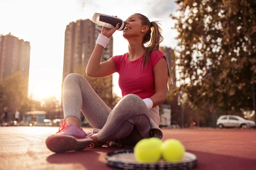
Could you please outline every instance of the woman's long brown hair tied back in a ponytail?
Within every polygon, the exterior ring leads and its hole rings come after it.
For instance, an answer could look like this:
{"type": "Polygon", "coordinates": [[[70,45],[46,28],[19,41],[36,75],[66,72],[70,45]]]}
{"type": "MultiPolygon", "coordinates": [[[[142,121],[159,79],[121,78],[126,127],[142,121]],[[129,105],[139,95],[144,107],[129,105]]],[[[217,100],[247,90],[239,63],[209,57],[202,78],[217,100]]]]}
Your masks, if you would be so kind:
{"type": "MultiPolygon", "coordinates": [[[[158,24],[160,24],[160,23],[158,23],[157,21],[150,22],[145,15],[138,14],[138,13],[136,13],[136,14],[139,15],[143,26],[148,26],[148,32],[145,34],[145,37],[142,41],[143,46],[146,42],[150,41],[150,39],[151,39],[150,44],[147,47],[144,46],[145,47],[145,56],[143,58],[142,67],[145,67],[148,65],[148,61],[151,57],[151,53],[154,50],[160,50],[160,43],[163,41],[163,36],[161,35],[161,32],[160,32],[160,31],[162,31],[162,29],[158,26],[158,24]],[[152,31],[151,31],[151,29],[152,29],[152,31]],[[152,32],[152,38],[151,38],[151,32],[152,32]]],[[[165,57],[165,59],[166,59],[166,57],[165,57]]],[[[170,72],[170,68],[169,68],[169,62],[167,61],[167,59],[166,59],[166,63],[167,63],[167,67],[168,67],[168,89],[169,89],[170,85],[172,85],[174,83],[172,80],[172,76],[171,76],[171,72],[170,72]]]]}

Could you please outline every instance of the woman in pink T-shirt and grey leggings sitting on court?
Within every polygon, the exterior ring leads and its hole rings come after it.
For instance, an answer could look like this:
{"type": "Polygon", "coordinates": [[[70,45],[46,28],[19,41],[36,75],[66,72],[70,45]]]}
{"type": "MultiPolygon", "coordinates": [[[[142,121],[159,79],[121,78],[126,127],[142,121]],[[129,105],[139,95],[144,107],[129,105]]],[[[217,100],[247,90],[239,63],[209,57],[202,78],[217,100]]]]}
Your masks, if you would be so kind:
{"type": "Polygon", "coordinates": [[[83,150],[113,141],[119,146],[134,146],[143,138],[162,138],[158,105],[166,100],[172,77],[168,62],[159,50],[163,41],[161,29],[142,14],[131,15],[125,23],[123,37],[129,43],[128,53],[100,63],[102,51],[119,24],[113,29],[103,27],[86,69],[90,77],[118,72],[122,99],[111,110],[84,77],[69,74],[63,83],[65,120],[59,131],[46,141],[53,152],[83,150]],[[80,111],[94,128],[93,132],[85,133],[80,128],[80,111]]]}

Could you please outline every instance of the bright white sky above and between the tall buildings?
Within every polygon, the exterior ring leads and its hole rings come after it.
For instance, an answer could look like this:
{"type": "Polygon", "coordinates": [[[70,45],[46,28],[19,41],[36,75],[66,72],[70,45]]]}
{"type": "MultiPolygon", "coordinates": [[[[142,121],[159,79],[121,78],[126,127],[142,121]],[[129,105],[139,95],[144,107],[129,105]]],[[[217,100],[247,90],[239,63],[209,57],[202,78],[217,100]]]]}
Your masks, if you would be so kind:
{"type": "MultiPolygon", "coordinates": [[[[126,20],[141,13],[161,21],[161,45],[175,48],[177,31],[169,17],[176,14],[174,0],[0,0],[0,34],[30,42],[29,97],[41,101],[54,95],[61,100],[65,29],[70,22],[92,19],[94,13],[126,20]]],[[[113,56],[128,52],[122,31],[113,34],[113,56]]],[[[121,96],[118,74],[113,74],[113,93],[121,96]]]]}

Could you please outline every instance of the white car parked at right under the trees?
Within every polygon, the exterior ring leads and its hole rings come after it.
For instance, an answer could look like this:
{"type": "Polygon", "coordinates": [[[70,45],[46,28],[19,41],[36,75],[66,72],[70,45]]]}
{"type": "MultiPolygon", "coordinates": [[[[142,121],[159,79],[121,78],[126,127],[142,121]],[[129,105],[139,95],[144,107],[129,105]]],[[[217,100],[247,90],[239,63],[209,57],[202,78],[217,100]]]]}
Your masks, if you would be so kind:
{"type": "Polygon", "coordinates": [[[235,115],[224,115],[220,116],[217,120],[217,127],[254,127],[255,122],[250,120],[245,120],[239,116],[235,115]]]}

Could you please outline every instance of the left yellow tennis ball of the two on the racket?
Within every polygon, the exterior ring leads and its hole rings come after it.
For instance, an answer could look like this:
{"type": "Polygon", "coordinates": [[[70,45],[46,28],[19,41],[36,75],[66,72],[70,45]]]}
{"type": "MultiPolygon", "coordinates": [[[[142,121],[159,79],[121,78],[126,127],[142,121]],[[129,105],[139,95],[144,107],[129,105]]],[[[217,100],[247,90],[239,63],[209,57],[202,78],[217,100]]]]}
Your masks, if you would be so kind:
{"type": "Polygon", "coordinates": [[[154,163],[160,160],[162,141],[158,138],[140,140],[134,147],[134,156],[139,163],[154,163]]]}

